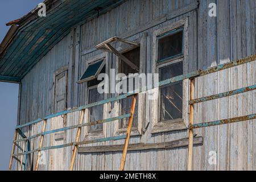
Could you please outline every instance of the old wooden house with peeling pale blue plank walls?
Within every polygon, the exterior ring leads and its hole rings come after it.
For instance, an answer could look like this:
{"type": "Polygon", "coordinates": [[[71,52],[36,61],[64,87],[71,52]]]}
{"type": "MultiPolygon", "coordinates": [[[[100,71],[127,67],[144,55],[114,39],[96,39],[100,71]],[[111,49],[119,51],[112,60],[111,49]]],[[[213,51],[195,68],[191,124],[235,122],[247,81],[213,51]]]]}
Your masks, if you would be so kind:
{"type": "Polygon", "coordinates": [[[154,88],[155,100],[148,92],[137,94],[125,170],[256,169],[255,0],[44,3],[46,16],[36,7],[9,22],[0,47],[0,80],[19,83],[12,169],[68,170],[75,148],[74,170],[119,169],[125,138],[118,136],[126,134],[128,119],[118,116],[130,113],[131,98],[87,107],[121,95],[97,92],[98,73],[110,75],[110,69],[159,73],[159,81],[209,71],[195,75],[193,89],[191,76],[154,88]],[[216,95],[192,107],[189,102],[220,93],[228,97],[216,95]],[[72,126],[114,117],[79,127],[84,143],[68,145],[79,130],[72,126]],[[212,121],[228,124],[189,133],[193,123],[212,121]],[[56,129],[63,130],[45,133],[56,129]],[[52,146],[63,147],[47,148],[52,146]]]}

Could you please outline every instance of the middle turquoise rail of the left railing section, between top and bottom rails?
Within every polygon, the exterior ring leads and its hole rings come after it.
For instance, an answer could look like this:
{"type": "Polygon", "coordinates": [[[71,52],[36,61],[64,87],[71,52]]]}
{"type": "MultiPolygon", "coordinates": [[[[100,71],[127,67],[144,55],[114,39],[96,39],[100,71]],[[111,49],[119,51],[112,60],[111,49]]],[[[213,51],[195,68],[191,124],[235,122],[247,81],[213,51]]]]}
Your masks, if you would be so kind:
{"type": "Polygon", "coordinates": [[[33,136],[31,136],[31,137],[27,137],[27,138],[22,138],[22,139],[14,140],[14,143],[22,142],[22,141],[25,141],[25,140],[30,140],[30,139],[33,139],[33,138],[36,138],[36,137],[40,137],[41,135],[48,135],[48,134],[57,133],[57,132],[60,132],[60,131],[66,131],[66,130],[76,129],[76,128],[78,128],[78,127],[92,126],[92,125],[98,125],[98,124],[101,124],[101,123],[112,122],[112,121],[119,120],[119,119],[129,118],[130,116],[131,116],[131,114],[125,114],[125,115],[120,115],[120,116],[118,116],[118,117],[113,117],[113,118],[108,118],[108,119],[102,119],[102,120],[95,121],[95,122],[83,123],[83,124],[81,124],[81,125],[74,125],[74,126],[63,127],[63,128],[61,128],[61,129],[50,130],[50,131],[44,131],[43,133],[39,133],[39,134],[33,135],[33,136]]]}

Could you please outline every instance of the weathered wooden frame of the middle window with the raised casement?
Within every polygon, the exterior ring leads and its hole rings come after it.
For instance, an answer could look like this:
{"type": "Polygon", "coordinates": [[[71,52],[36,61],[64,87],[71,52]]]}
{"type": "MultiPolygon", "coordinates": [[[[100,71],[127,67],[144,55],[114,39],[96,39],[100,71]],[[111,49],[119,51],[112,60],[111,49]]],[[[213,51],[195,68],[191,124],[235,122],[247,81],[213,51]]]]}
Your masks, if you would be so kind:
{"type": "MultiPolygon", "coordinates": [[[[147,46],[146,46],[146,42],[147,42],[147,34],[143,34],[143,36],[140,36],[139,38],[134,38],[131,39],[131,41],[135,42],[135,43],[139,43],[139,48],[140,48],[140,60],[139,60],[139,72],[143,73],[145,72],[145,63],[146,63],[146,57],[144,56],[147,52],[147,46]]],[[[126,53],[129,52],[135,48],[138,47],[118,47],[117,50],[120,53],[126,53]]],[[[117,75],[120,71],[121,68],[121,59],[119,59],[119,57],[117,57],[117,59],[115,60],[115,74],[117,75]]],[[[135,74],[135,73],[134,73],[135,74]]],[[[127,79],[131,78],[130,76],[127,76],[127,79]]],[[[128,80],[127,80],[128,81],[128,80]]],[[[141,87],[141,85],[140,85],[141,87]]],[[[118,96],[119,94],[117,94],[118,96]]],[[[132,127],[131,129],[131,136],[138,136],[138,135],[142,135],[142,130],[143,130],[143,124],[144,124],[144,104],[145,104],[145,94],[144,93],[138,93],[137,95],[137,102],[138,102],[138,123],[137,123],[137,127],[132,127]]],[[[120,101],[116,101],[117,104],[117,113],[118,115],[120,115],[121,113],[121,104],[120,101]]],[[[127,128],[119,128],[119,121],[115,122],[114,124],[114,135],[118,136],[118,135],[123,135],[126,134],[127,132],[127,128]]]]}

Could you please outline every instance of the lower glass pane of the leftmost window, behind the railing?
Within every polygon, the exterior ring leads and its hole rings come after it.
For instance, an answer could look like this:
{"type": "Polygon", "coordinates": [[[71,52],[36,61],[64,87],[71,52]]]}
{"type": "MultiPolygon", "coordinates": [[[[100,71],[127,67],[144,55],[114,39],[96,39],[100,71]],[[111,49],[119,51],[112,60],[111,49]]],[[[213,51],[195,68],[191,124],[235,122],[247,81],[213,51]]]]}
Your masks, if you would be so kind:
{"type": "MultiPolygon", "coordinates": [[[[89,90],[89,104],[104,100],[104,94],[98,93],[97,88],[89,90]]],[[[103,105],[89,108],[89,122],[103,119],[103,105]]],[[[89,132],[102,131],[103,124],[89,126],[89,132]]]]}

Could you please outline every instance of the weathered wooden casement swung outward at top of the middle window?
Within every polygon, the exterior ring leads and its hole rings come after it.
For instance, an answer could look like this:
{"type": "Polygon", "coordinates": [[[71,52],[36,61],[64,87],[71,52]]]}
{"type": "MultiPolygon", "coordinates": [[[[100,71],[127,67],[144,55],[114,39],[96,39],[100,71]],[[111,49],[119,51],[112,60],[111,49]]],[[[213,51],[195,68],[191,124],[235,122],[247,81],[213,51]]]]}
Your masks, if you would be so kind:
{"type": "Polygon", "coordinates": [[[120,43],[124,43],[124,44],[128,44],[131,49],[137,48],[139,47],[138,43],[135,43],[133,41],[130,40],[126,40],[126,39],[121,39],[118,37],[113,37],[110,38],[100,44],[98,44],[96,46],[97,49],[100,49],[102,51],[106,51],[106,52],[111,52],[114,53],[116,56],[119,57],[119,59],[121,59],[122,61],[124,61],[127,65],[129,65],[131,67],[131,69],[134,69],[135,71],[139,72],[139,67],[137,65],[135,65],[133,63],[133,61],[130,61],[126,56],[124,56],[122,53],[120,53],[119,51],[117,51],[117,49],[115,49],[111,43],[116,43],[116,42],[120,42],[120,43]]]}

